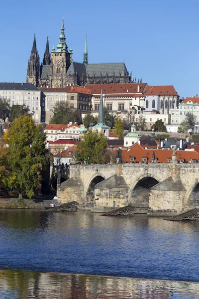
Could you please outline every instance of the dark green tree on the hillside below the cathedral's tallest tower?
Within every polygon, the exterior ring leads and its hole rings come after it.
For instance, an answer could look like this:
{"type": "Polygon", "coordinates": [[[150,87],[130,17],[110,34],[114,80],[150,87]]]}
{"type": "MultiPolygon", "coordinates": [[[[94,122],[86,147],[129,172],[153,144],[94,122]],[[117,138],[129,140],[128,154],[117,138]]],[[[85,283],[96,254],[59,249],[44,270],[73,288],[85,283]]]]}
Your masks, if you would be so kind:
{"type": "Polygon", "coordinates": [[[81,115],[77,109],[71,109],[67,102],[57,102],[54,107],[54,116],[50,119],[50,124],[67,125],[69,122],[81,124],[81,115]]]}

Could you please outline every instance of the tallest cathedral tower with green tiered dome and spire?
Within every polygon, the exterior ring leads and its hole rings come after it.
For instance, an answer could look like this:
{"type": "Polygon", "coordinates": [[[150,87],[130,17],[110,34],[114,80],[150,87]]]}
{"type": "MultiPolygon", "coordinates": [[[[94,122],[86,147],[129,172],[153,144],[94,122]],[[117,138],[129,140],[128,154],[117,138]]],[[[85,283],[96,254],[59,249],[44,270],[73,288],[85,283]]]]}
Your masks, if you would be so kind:
{"type": "Polygon", "coordinates": [[[64,19],[61,27],[61,34],[59,36],[59,44],[57,49],[53,46],[51,53],[50,64],[50,86],[61,88],[65,86],[66,72],[72,62],[72,51],[68,51],[66,44],[66,36],[64,33],[64,19]]]}

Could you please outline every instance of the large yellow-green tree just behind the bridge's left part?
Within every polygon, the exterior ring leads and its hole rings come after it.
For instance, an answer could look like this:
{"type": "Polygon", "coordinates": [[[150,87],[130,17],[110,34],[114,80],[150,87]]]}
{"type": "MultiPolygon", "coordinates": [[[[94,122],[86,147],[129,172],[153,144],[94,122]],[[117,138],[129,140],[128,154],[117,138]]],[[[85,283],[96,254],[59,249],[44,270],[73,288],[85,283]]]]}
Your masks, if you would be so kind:
{"type": "Polygon", "coordinates": [[[75,152],[76,161],[89,164],[103,163],[106,148],[107,141],[103,137],[102,132],[98,133],[97,130],[93,132],[88,131],[84,136],[84,140],[81,140],[77,145],[75,152]]]}

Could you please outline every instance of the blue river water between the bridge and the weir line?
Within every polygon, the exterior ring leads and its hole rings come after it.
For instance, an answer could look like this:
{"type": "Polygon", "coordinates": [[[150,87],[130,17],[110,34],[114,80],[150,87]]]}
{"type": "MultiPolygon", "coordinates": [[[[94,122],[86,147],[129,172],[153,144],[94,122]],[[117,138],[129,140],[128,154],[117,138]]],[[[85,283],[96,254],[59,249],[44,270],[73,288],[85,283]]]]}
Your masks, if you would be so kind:
{"type": "Polygon", "coordinates": [[[0,210],[1,269],[199,282],[198,255],[196,222],[0,210]]]}

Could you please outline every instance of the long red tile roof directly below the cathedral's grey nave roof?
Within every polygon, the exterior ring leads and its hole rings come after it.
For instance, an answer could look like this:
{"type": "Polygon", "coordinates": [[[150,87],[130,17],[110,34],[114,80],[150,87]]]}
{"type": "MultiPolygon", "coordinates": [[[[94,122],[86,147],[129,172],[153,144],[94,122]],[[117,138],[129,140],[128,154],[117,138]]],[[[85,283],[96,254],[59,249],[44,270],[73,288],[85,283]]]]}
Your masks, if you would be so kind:
{"type": "Polygon", "coordinates": [[[93,95],[100,95],[102,86],[102,92],[107,96],[107,94],[142,94],[146,85],[147,83],[87,84],[86,87],[91,89],[93,95]],[[138,85],[140,87],[139,92],[137,92],[138,85]]]}

